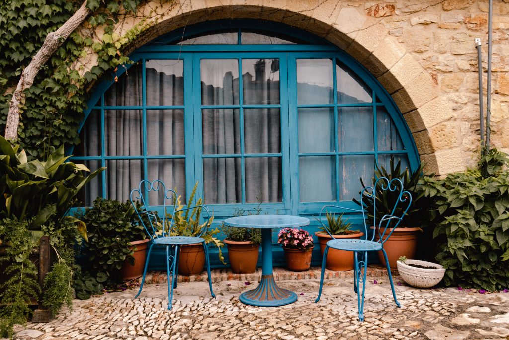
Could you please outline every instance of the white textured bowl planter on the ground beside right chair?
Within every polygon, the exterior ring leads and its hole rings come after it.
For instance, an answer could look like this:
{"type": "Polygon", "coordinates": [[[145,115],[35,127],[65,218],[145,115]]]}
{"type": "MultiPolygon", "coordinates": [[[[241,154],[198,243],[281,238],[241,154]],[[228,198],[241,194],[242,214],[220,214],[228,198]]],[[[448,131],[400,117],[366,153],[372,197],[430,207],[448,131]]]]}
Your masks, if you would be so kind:
{"type": "Polygon", "coordinates": [[[445,274],[445,269],[442,266],[427,261],[407,259],[405,263],[398,261],[397,265],[403,281],[417,288],[433,287],[442,280],[445,274]],[[434,267],[436,269],[416,268],[409,265],[434,267]]]}

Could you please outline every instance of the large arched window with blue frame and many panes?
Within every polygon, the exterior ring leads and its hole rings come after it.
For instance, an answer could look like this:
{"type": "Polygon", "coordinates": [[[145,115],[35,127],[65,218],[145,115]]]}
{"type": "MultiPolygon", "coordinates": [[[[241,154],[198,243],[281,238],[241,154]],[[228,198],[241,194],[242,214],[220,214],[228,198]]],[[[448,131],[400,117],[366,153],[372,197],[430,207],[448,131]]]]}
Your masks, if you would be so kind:
{"type": "Polygon", "coordinates": [[[107,76],[73,151],[107,167],[85,205],[126,200],[141,179],[159,178],[183,199],[197,181],[217,217],[259,202],[316,214],[324,202],[353,206],[376,163],[417,167],[401,113],[365,68],[319,38],[260,23],[173,32],[136,50],[118,82],[107,76]]]}

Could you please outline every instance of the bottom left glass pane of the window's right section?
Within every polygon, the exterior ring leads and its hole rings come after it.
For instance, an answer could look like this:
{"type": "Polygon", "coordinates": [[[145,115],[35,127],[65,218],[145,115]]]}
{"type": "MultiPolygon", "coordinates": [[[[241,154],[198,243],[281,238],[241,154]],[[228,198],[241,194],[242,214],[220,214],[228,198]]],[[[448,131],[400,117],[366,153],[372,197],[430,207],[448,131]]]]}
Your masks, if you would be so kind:
{"type": "Polygon", "coordinates": [[[301,202],[336,200],[334,156],[299,157],[301,202]]]}

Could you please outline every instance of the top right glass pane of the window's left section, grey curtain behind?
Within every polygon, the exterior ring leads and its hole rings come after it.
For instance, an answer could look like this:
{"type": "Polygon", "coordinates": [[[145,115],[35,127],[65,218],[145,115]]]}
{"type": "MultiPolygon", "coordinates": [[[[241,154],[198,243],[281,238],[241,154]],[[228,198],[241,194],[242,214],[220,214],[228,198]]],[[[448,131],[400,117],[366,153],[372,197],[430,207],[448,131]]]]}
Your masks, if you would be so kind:
{"type": "Polygon", "coordinates": [[[147,60],[147,105],[184,104],[184,61],[147,60]]]}

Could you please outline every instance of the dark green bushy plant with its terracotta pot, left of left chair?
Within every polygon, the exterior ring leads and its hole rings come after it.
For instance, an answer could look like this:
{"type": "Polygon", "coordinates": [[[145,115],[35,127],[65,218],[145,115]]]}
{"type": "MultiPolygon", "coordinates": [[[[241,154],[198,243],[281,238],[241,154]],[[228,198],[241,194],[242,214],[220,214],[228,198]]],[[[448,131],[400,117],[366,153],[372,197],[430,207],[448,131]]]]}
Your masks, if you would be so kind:
{"type": "Polygon", "coordinates": [[[131,280],[142,276],[150,240],[129,201],[98,197],[82,220],[88,228],[92,272],[100,282],[110,285],[117,278],[131,280]]]}

